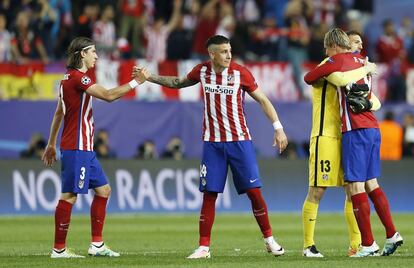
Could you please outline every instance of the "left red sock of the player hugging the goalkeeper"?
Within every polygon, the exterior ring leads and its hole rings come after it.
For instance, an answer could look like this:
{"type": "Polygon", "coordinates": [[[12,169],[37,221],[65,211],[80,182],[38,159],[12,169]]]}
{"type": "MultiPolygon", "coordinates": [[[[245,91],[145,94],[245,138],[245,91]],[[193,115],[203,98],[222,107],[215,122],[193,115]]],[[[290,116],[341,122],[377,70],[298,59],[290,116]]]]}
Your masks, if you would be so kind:
{"type": "Polygon", "coordinates": [[[371,230],[370,207],[367,193],[359,193],[353,195],[352,206],[354,207],[355,218],[358,228],[361,232],[361,240],[363,246],[371,246],[374,243],[374,236],[371,230]]]}

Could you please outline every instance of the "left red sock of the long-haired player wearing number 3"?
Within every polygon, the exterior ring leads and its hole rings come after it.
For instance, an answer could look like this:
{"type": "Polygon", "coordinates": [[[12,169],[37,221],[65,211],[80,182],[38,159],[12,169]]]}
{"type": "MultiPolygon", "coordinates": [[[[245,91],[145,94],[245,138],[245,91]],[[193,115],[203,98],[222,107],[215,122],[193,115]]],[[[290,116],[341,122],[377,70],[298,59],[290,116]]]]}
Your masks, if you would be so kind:
{"type": "Polygon", "coordinates": [[[59,200],[55,211],[55,249],[66,247],[66,235],[69,230],[70,215],[72,214],[73,204],[59,200]]]}

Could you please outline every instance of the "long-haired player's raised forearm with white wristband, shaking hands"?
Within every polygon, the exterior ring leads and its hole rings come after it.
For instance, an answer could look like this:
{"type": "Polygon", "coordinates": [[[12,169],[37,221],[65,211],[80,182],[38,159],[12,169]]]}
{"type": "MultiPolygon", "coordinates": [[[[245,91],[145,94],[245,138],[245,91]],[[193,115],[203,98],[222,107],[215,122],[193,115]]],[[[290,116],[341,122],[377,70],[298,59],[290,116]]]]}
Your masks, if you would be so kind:
{"type": "Polygon", "coordinates": [[[141,68],[137,72],[133,71],[132,73],[133,79],[127,84],[121,85],[119,87],[111,88],[109,90],[107,90],[101,85],[94,84],[86,90],[86,93],[94,96],[95,98],[98,98],[98,99],[101,99],[107,102],[112,102],[124,96],[128,91],[130,91],[131,89],[134,89],[139,84],[144,83],[148,79],[149,75],[150,73],[148,72],[147,69],[141,68]]]}

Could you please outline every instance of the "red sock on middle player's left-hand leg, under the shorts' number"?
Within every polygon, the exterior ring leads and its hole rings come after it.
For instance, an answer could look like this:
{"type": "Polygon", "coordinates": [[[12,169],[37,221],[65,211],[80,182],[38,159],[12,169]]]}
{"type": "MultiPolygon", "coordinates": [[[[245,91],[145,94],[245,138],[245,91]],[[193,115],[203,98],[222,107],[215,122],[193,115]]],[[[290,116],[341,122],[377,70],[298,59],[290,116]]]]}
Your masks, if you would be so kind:
{"type": "Polygon", "coordinates": [[[200,246],[210,246],[211,228],[213,228],[216,214],[216,199],[217,193],[204,192],[199,222],[200,246]]]}

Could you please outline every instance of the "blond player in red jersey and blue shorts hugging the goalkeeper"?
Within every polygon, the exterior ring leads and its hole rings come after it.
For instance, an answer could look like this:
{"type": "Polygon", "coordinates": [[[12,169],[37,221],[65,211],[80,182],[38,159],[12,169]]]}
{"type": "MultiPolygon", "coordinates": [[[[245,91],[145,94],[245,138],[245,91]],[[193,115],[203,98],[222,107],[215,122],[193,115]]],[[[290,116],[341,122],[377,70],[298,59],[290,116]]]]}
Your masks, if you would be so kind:
{"type": "MultiPolygon", "coordinates": [[[[325,35],[325,47],[329,61],[310,71],[305,76],[308,84],[334,72],[344,72],[364,66],[366,61],[359,53],[347,52],[338,43],[343,31],[338,28],[325,35]]],[[[361,232],[361,247],[352,257],[377,256],[379,246],[374,240],[370,221],[370,203],[385,228],[386,240],[382,256],[388,256],[403,244],[397,232],[388,199],[378,184],[381,176],[379,147],[381,135],[378,121],[370,110],[372,77],[367,75],[359,80],[353,77],[351,86],[338,87],[342,131],[342,164],[346,188],[351,194],[355,218],[361,232]]]]}

